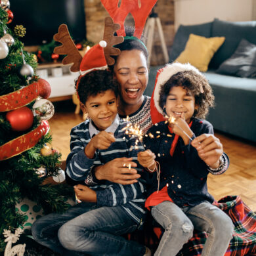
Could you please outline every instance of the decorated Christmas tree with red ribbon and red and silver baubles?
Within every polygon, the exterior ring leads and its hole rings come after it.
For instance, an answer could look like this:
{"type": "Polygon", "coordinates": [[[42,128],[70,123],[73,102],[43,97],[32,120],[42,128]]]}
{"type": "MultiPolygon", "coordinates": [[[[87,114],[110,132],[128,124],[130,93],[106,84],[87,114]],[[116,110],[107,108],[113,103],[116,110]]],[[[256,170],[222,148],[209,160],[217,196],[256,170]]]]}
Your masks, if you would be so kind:
{"type": "Polygon", "coordinates": [[[0,0],[0,255],[6,245],[4,229],[26,230],[32,224],[18,207],[23,200],[34,202],[36,212],[62,212],[72,192],[65,184],[45,182],[63,175],[47,121],[54,114],[47,100],[51,87],[34,75],[35,56],[24,51],[20,41],[26,29],[16,25],[11,30],[12,18],[9,0],[0,0]]]}

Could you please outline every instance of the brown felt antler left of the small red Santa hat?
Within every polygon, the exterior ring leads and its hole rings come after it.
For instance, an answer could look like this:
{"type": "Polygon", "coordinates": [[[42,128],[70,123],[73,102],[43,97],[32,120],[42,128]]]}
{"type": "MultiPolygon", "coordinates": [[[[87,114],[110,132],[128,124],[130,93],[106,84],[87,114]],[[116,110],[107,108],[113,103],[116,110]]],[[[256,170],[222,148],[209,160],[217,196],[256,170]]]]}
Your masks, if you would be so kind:
{"type": "Polygon", "coordinates": [[[62,45],[54,48],[53,53],[68,54],[68,56],[66,56],[62,60],[62,63],[63,64],[74,63],[70,68],[70,70],[72,72],[78,72],[79,66],[82,60],[82,56],[77,50],[77,48],[75,47],[74,41],[70,37],[70,33],[68,32],[68,27],[66,26],[66,24],[61,24],[58,27],[58,33],[56,33],[53,36],[53,39],[55,41],[62,43],[62,45]]]}

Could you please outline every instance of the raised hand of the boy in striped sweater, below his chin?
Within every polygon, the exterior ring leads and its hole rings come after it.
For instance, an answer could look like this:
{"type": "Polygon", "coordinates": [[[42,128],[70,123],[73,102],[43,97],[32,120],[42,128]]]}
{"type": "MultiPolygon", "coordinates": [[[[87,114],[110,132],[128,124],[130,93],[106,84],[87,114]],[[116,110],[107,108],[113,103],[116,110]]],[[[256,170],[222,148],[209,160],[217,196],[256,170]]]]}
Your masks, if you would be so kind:
{"type": "Polygon", "coordinates": [[[93,137],[90,142],[85,147],[85,155],[87,158],[93,158],[95,151],[97,149],[104,150],[109,148],[112,142],[115,142],[116,138],[113,133],[108,133],[106,131],[101,131],[95,137],[93,137]]]}

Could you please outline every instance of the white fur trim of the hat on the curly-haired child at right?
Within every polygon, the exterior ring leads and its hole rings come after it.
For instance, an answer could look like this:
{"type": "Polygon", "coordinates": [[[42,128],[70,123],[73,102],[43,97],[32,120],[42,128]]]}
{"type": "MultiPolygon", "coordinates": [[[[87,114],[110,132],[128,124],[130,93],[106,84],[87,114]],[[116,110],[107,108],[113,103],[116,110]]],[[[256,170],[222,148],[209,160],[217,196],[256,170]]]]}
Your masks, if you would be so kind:
{"type": "Polygon", "coordinates": [[[161,87],[175,74],[184,71],[194,71],[197,74],[201,74],[200,71],[194,66],[187,64],[181,64],[179,62],[173,62],[172,64],[167,64],[164,68],[159,70],[160,74],[158,75],[158,80],[156,81],[155,91],[154,91],[154,103],[156,109],[160,114],[164,116],[163,110],[160,108],[159,100],[160,100],[160,91],[161,87]]]}

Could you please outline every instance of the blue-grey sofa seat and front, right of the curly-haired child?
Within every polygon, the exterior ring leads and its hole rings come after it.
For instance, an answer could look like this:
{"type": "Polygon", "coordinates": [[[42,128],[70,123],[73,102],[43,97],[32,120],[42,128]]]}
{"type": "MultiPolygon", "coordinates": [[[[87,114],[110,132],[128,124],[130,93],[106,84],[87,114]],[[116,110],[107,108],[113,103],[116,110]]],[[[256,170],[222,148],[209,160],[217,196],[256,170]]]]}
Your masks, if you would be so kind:
{"type": "Polygon", "coordinates": [[[207,120],[219,131],[256,142],[256,79],[204,73],[215,96],[207,120]]]}

